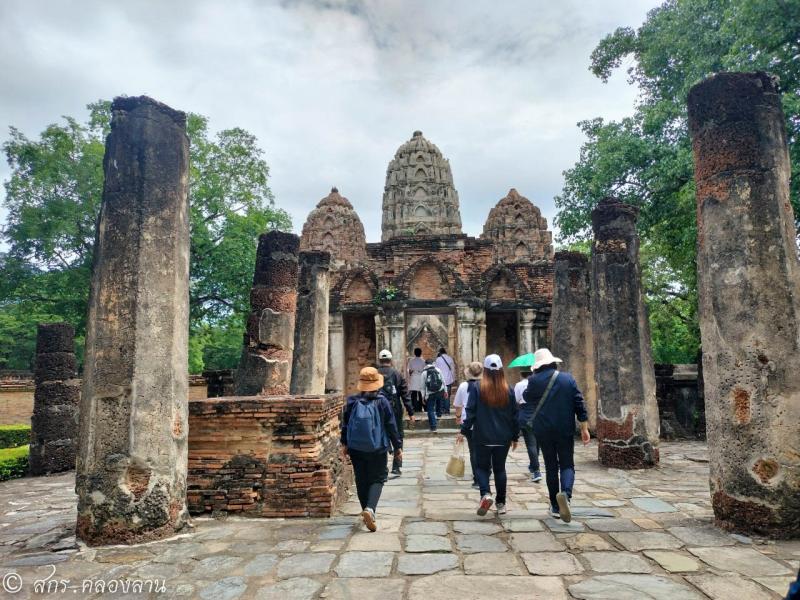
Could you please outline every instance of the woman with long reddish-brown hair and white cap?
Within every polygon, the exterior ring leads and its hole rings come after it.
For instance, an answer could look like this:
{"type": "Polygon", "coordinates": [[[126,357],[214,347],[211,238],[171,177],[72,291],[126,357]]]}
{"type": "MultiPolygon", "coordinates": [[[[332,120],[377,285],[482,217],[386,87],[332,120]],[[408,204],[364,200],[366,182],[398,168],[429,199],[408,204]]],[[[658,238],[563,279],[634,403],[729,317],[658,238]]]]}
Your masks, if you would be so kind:
{"type": "Polygon", "coordinates": [[[494,474],[497,487],[497,514],[506,513],[506,458],[509,448],[516,450],[519,439],[517,401],[514,390],[503,373],[503,361],[490,354],[483,361],[483,376],[479,385],[468,391],[467,418],[461,425],[461,435],[472,435],[475,444],[475,463],[481,500],[478,515],[485,515],[495,501],[489,488],[494,474]]]}

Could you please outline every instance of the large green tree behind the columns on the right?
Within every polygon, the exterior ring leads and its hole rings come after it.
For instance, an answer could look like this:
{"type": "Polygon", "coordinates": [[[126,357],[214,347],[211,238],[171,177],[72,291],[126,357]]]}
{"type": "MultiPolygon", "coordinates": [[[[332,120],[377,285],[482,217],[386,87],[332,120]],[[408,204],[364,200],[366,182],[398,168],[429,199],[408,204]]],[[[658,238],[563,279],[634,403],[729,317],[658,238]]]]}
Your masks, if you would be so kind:
{"type": "MultiPolygon", "coordinates": [[[[556,222],[563,241],[572,242],[590,236],[590,214],[603,197],[640,207],[640,235],[648,252],[643,277],[657,361],[694,360],[699,347],[689,89],[719,71],[777,75],[796,173],[798,55],[797,0],[669,0],[650,11],[639,29],[617,29],[592,53],[590,69],[603,81],[632,58],[629,82],[638,86],[639,99],[630,117],[578,124],[587,141],[578,162],[564,172],[556,222]]],[[[800,214],[798,177],[792,182],[792,203],[800,214]]]]}

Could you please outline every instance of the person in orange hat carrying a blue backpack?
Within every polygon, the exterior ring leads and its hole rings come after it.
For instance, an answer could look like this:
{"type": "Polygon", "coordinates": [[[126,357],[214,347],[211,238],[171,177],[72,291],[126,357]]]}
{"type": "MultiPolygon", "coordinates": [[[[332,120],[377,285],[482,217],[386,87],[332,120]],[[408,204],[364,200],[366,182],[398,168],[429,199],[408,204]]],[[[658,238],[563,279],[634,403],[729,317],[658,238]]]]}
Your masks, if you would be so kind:
{"type": "Polygon", "coordinates": [[[342,414],[342,455],[350,456],[356,478],[356,492],[361,503],[361,518],[367,529],[375,531],[375,513],[383,484],[388,477],[389,444],[402,460],[403,442],[397,434],[392,407],[381,393],[383,375],[374,367],[361,369],[358,394],[347,398],[342,414]]]}

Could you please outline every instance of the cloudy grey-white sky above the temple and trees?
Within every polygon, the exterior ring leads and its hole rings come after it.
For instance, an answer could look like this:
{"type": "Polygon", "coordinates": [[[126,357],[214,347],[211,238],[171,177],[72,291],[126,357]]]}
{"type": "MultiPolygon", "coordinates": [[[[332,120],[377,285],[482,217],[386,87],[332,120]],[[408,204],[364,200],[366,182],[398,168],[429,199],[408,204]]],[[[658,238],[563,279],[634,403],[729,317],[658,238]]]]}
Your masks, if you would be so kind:
{"type": "Polygon", "coordinates": [[[450,159],[466,233],[511,187],[552,223],[576,123],[636,95],[624,71],[592,76],[589,54],[657,3],[3,0],[0,140],[147,94],[253,132],[297,232],[336,185],[378,241],[386,166],[421,129],[450,159]]]}

